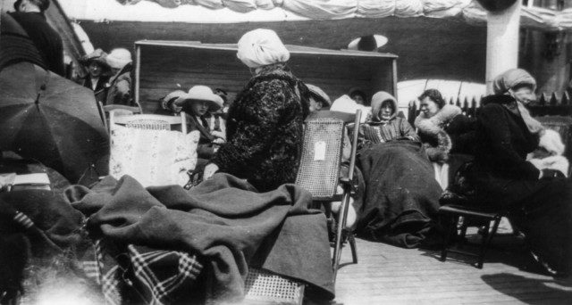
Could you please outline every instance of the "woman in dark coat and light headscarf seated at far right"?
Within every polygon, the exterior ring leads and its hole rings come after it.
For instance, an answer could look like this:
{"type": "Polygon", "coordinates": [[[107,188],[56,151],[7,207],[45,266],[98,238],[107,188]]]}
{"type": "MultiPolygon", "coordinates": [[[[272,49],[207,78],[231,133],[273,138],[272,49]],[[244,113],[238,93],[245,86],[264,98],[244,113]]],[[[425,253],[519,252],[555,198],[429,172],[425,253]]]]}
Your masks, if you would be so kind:
{"type": "Polygon", "coordinates": [[[526,161],[544,133],[526,110],[536,81],[514,69],[494,79],[477,113],[475,161],[467,177],[483,202],[509,209],[534,257],[555,275],[572,271],[572,182],[526,161]]]}

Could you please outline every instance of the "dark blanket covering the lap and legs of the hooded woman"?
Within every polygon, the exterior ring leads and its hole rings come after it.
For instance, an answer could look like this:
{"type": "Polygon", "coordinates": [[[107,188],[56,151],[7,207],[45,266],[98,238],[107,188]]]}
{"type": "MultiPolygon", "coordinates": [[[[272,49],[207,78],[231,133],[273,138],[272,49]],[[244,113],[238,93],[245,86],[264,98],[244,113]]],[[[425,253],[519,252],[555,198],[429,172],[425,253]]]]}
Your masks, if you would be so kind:
{"type": "Polygon", "coordinates": [[[360,151],[366,180],[357,232],[365,238],[412,248],[432,233],[441,186],[421,144],[391,141],[360,151]]]}

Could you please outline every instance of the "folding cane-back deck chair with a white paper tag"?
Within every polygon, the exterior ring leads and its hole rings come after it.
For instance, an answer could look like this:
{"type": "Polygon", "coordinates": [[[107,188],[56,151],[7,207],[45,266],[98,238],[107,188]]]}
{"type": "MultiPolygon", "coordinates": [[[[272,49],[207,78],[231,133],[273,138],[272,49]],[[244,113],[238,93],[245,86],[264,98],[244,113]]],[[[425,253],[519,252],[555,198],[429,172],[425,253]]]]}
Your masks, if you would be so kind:
{"type": "Polygon", "coordinates": [[[306,123],[302,158],[296,178],[296,184],[310,192],[314,201],[341,201],[340,212],[337,215],[332,257],[334,281],[340,265],[341,246],[346,238],[349,242],[353,262],[357,263],[356,243],[354,235],[346,228],[346,218],[349,210],[349,197],[354,191],[352,181],[356,167],[357,132],[360,119],[361,111],[358,110],[353,122],[355,126],[351,137],[348,177],[341,177],[343,139],[348,121],[322,117],[308,120],[306,123]],[[337,194],[336,190],[340,184],[343,192],[337,194]]]}

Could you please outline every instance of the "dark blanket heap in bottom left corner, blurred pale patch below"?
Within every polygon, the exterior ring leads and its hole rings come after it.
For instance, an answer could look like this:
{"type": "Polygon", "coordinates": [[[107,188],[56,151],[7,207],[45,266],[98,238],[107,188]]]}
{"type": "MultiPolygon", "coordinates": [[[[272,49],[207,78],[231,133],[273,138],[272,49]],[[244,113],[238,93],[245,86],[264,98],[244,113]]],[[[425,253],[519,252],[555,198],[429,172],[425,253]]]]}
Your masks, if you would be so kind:
{"type": "Polygon", "coordinates": [[[18,293],[29,303],[53,303],[46,300],[46,289],[54,294],[68,289],[71,297],[102,302],[95,279],[85,273],[94,249],[81,230],[84,220],[61,192],[0,193],[1,303],[12,303],[18,293]]]}

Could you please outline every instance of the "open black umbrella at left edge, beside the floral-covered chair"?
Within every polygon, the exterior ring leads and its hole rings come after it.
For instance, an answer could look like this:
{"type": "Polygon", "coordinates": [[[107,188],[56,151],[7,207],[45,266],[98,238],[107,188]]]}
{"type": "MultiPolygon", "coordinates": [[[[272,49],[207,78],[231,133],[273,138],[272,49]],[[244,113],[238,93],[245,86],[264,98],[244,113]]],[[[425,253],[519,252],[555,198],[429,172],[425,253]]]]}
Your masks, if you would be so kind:
{"type": "Polygon", "coordinates": [[[30,62],[4,68],[0,150],[40,161],[72,183],[105,167],[108,137],[93,92],[30,62]]]}

